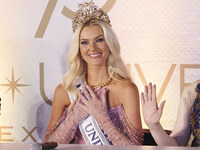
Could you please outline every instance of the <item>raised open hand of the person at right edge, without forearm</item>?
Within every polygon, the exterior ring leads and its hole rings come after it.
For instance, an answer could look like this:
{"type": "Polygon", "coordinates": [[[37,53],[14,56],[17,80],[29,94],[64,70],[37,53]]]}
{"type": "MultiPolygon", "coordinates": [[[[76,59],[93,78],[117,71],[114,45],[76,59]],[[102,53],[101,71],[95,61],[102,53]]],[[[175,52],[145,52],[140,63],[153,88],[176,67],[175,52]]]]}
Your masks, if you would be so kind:
{"type": "Polygon", "coordinates": [[[141,93],[142,112],[146,125],[149,128],[155,127],[159,124],[160,117],[162,115],[165,101],[160,104],[158,108],[156,98],[156,85],[149,83],[148,86],[144,87],[144,93],[141,93]]]}

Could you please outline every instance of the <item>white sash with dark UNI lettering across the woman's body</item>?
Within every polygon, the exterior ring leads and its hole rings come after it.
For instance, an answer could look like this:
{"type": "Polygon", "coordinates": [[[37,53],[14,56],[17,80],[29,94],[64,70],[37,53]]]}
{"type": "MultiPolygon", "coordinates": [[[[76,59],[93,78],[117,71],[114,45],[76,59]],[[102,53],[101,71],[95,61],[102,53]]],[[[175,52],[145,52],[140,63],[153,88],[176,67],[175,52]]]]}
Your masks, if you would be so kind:
{"type": "MultiPolygon", "coordinates": [[[[84,84],[82,82],[82,78],[80,79],[81,86],[79,89],[82,89],[82,85],[84,84]]],[[[68,95],[70,97],[71,103],[75,100],[73,95],[71,95],[68,92],[68,95]]],[[[79,129],[81,131],[81,134],[86,142],[86,144],[91,145],[110,145],[107,138],[103,134],[101,128],[99,127],[97,121],[94,117],[88,116],[86,119],[80,122],[79,129]]]]}

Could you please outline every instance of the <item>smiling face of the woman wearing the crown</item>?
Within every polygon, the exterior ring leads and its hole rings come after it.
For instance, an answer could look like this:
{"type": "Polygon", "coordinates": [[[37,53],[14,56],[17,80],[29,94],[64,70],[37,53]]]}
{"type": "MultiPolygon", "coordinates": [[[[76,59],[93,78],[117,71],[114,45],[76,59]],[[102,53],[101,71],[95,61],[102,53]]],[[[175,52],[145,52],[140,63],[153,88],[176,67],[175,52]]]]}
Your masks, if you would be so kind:
{"type": "Polygon", "coordinates": [[[109,48],[99,25],[86,26],[82,29],[80,53],[88,65],[106,65],[109,48]]]}

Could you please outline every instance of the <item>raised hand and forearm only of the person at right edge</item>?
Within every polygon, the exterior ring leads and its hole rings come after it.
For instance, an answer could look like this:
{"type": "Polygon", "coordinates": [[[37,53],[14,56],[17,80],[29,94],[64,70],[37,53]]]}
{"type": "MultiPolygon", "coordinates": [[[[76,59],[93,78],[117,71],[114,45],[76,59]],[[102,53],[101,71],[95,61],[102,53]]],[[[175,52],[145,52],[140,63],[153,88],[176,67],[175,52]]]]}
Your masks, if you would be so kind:
{"type": "Polygon", "coordinates": [[[150,83],[149,86],[144,87],[144,93],[141,94],[141,103],[144,121],[156,143],[159,146],[178,146],[176,140],[164,131],[159,122],[165,101],[158,108],[155,85],[152,88],[150,83]]]}

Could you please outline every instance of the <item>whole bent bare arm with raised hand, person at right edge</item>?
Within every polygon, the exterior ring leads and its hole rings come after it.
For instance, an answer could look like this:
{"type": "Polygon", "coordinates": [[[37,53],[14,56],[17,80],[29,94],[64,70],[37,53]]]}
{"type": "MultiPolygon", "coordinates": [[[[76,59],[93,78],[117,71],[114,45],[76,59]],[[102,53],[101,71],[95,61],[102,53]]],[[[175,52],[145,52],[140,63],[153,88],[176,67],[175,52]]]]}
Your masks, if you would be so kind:
{"type": "Polygon", "coordinates": [[[191,93],[188,90],[184,90],[179,104],[175,128],[173,129],[172,134],[169,136],[159,122],[165,101],[163,101],[158,108],[156,99],[156,86],[154,85],[152,88],[151,83],[148,87],[145,86],[145,91],[141,94],[144,121],[149,127],[154,140],[159,146],[187,145],[190,137],[189,116],[191,109],[191,104],[185,103],[188,103],[191,99],[188,99],[188,94],[190,95],[191,93]]]}

